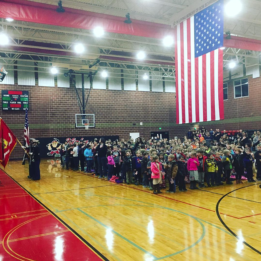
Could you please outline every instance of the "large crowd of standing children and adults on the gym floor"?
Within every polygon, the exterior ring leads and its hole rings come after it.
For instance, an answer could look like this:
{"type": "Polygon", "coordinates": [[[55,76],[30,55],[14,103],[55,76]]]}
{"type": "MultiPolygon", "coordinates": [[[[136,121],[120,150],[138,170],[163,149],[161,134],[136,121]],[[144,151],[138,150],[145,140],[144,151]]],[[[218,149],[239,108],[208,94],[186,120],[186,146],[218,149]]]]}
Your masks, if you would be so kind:
{"type": "Polygon", "coordinates": [[[208,132],[204,127],[201,131],[188,131],[184,139],[149,139],[142,138],[125,141],[105,141],[103,138],[86,144],[63,144],[60,150],[62,165],[69,169],[92,173],[99,178],[118,179],[118,182],[142,185],[153,190],[154,194],[174,193],[176,187],[181,192],[242,183],[245,176],[248,182],[253,179],[253,164],[257,169],[256,178],[261,181],[261,135],[257,131],[249,138],[240,130],[231,137],[224,130],[208,132]],[[257,138],[256,138],[257,137],[257,138]],[[252,141],[253,140],[253,141],[252,141]],[[256,150],[255,154],[252,152],[256,150]],[[206,183],[206,185],[205,185],[206,183]],[[198,186],[197,186],[198,185],[198,186]]]}

